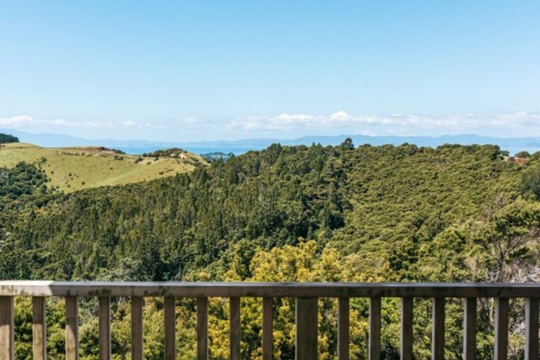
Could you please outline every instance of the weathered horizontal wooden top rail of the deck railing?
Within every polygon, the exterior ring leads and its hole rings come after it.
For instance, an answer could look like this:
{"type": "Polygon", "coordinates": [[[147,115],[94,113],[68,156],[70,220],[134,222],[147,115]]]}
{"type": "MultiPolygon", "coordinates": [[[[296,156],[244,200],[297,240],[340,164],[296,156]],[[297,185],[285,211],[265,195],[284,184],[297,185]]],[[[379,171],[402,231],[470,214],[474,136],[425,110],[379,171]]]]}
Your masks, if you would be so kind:
{"type": "Polygon", "coordinates": [[[0,296],[540,297],[540,283],[0,281],[0,296]]]}

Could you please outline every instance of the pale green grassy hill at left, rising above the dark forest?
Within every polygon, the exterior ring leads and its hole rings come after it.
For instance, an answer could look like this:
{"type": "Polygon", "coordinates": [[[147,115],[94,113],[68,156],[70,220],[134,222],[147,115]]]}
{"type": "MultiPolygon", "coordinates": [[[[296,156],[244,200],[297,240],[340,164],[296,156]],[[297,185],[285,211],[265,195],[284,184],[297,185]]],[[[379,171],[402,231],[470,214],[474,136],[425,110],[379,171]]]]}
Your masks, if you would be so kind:
{"type": "Polygon", "coordinates": [[[207,162],[199,155],[141,158],[99,147],[42,148],[28,143],[0,146],[0,167],[37,163],[51,179],[49,186],[70,193],[84,188],[131,184],[191,172],[207,162]]]}

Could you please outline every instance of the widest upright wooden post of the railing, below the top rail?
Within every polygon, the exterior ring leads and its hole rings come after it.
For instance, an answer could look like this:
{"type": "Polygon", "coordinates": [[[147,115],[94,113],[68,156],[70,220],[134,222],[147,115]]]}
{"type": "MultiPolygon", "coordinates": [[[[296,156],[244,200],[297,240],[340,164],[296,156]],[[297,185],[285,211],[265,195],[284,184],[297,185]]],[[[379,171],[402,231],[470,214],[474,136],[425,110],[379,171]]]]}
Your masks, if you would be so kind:
{"type": "Polygon", "coordinates": [[[296,298],[296,360],[317,359],[317,298],[296,298]]]}

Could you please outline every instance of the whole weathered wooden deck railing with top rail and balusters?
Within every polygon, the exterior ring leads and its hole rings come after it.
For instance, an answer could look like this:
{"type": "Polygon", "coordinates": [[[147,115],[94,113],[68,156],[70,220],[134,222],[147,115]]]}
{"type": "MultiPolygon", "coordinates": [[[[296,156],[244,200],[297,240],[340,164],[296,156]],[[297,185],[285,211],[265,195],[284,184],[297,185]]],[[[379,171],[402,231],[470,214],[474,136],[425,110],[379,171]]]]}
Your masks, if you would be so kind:
{"type": "Polygon", "coordinates": [[[129,283],[0,281],[0,359],[13,360],[13,297],[33,297],[34,359],[46,359],[45,297],[65,297],[66,359],[79,358],[78,298],[98,298],[99,357],[110,359],[110,297],[131,298],[131,359],[143,359],[143,297],[164,297],[165,359],[175,359],[175,297],[197,299],[197,356],[208,357],[208,297],[230,299],[231,359],[240,359],[240,298],[262,297],[263,359],[272,359],[272,302],[296,299],[296,359],[317,358],[317,299],[338,298],[338,359],[349,359],[349,298],[370,299],[369,359],[380,359],[381,298],[401,298],[401,359],[413,359],[413,299],[432,298],[432,359],[444,359],[445,298],[463,298],[463,359],[475,359],[477,299],[495,299],[494,359],[508,356],[508,299],[525,298],[525,359],[539,359],[537,284],[492,283],[129,283]]]}

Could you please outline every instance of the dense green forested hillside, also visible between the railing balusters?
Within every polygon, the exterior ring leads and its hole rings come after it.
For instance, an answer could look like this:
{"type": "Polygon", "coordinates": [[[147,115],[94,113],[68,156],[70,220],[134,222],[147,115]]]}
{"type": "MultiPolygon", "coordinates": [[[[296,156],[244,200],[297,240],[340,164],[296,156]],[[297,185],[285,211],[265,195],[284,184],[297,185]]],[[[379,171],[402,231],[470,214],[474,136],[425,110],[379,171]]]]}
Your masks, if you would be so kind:
{"type": "MultiPolygon", "coordinates": [[[[537,281],[539,165],[537,155],[524,163],[508,161],[496,146],[354,148],[345,141],[336,147],[276,144],[188,174],[69,195],[50,194],[37,175],[28,181],[21,179],[25,185],[19,187],[31,184],[31,191],[13,195],[0,188],[0,196],[8,199],[0,217],[0,276],[537,281]],[[17,206],[13,206],[15,201],[17,206]]],[[[8,178],[16,175],[15,169],[3,171],[8,178]]],[[[427,302],[423,306],[422,300],[418,304],[415,352],[423,359],[430,346],[429,306],[427,302]]],[[[183,359],[190,359],[195,328],[186,324],[193,324],[189,311],[193,302],[182,300],[181,305],[177,315],[184,325],[178,346],[186,354],[183,359]]],[[[91,306],[88,304],[89,309],[91,306]]],[[[449,359],[458,358],[461,352],[460,306],[457,301],[447,307],[449,359]]],[[[225,307],[221,300],[212,300],[215,359],[228,355],[226,335],[221,331],[225,307]]],[[[124,359],[129,352],[122,345],[122,336],[129,333],[129,309],[122,301],[115,309],[119,325],[113,342],[118,359],[124,359]]],[[[366,357],[367,309],[364,300],[352,302],[353,356],[358,359],[366,357]]],[[[513,320],[519,325],[520,304],[513,309],[513,320]]],[[[243,352],[248,359],[260,355],[259,310],[256,300],[243,302],[243,327],[250,334],[243,338],[243,352]]],[[[160,301],[151,300],[148,311],[155,311],[150,323],[159,321],[160,301]]],[[[321,359],[333,359],[335,302],[321,300],[320,312],[321,359]]],[[[479,356],[489,358],[491,304],[482,304],[481,312],[479,356]]],[[[276,354],[290,359],[293,302],[279,300],[276,314],[276,354]]],[[[385,302],[383,318],[384,354],[396,359],[397,301],[385,302]]],[[[88,346],[86,359],[94,359],[93,320],[85,321],[89,326],[88,338],[82,340],[88,346]]],[[[522,330],[514,330],[512,354],[520,356],[522,330]]],[[[158,325],[148,333],[158,339],[162,336],[158,325]]],[[[23,358],[24,349],[19,351],[23,358]]],[[[152,342],[146,352],[148,359],[160,359],[160,342],[152,342]]]]}

